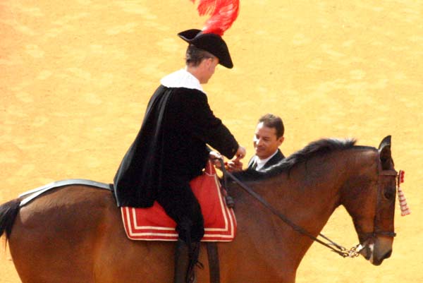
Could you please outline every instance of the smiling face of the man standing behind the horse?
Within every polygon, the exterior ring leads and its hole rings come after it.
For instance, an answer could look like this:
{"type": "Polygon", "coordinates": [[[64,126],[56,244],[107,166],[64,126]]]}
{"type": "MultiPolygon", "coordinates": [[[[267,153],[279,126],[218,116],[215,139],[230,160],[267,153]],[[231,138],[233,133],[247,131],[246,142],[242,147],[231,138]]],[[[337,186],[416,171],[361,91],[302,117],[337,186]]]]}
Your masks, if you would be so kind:
{"type": "Polygon", "coordinates": [[[254,138],[255,154],[260,159],[266,159],[273,155],[283,143],[283,137],[276,136],[276,128],[264,126],[263,122],[257,124],[254,138]]]}

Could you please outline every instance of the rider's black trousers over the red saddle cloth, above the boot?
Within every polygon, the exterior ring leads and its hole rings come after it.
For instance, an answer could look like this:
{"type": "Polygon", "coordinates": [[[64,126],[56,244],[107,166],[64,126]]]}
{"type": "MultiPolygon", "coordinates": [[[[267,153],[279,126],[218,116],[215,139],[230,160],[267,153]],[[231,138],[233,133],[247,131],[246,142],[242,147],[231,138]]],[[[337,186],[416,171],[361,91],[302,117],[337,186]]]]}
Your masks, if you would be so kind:
{"type": "Polygon", "coordinates": [[[195,198],[190,184],[160,190],[157,202],[166,214],[176,222],[179,238],[190,244],[199,242],[204,236],[204,219],[200,203],[195,198]]]}

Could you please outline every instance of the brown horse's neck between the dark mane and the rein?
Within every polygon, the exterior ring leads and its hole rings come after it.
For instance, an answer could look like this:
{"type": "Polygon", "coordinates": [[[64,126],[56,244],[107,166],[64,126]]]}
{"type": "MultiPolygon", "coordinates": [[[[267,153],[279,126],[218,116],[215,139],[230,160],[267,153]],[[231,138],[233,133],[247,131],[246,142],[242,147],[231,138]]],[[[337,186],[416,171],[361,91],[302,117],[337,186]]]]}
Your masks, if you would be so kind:
{"type": "Polygon", "coordinates": [[[350,163],[345,152],[333,152],[253,186],[279,211],[319,234],[340,203],[340,191],[349,178],[350,170],[346,168],[350,163]]]}

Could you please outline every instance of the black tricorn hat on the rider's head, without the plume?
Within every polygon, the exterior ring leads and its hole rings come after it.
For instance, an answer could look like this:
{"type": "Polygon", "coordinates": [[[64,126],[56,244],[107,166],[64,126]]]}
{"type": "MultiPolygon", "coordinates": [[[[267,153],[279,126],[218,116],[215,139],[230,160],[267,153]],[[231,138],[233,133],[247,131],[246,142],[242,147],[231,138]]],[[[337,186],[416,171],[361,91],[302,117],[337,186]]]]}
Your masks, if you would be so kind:
{"type": "Polygon", "coordinates": [[[219,64],[226,68],[232,68],[233,63],[228,46],[220,35],[214,33],[202,33],[201,30],[185,30],[179,32],[178,36],[195,47],[212,53],[219,58],[219,64]]]}

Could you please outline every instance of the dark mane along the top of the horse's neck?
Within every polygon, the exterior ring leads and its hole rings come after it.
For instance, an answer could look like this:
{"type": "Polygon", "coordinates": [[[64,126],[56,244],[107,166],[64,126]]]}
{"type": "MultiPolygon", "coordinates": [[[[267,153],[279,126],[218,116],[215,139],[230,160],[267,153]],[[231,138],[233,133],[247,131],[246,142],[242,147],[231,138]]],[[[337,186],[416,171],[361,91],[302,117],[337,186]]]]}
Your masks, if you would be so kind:
{"type": "Polygon", "coordinates": [[[358,146],[355,146],[355,143],[355,139],[340,140],[335,138],[322,138],[321,140],[316,140],[312,143],[309,143],[302,150],[298,150],[298,152],[293,153],[289,157],[282,159],[277,164],[274,164],[273,166],[264,169],[263,171],[247,169],[245,171],[234,172],[233,175],[243,181],[257,181],[260,179],[267,179],[269,177],[281,174],[282,172],[288,171],[289,173],[289,171],[297,164],[307,162],[307,160],[311,159],[312,157],[326,155],[336,150],[348,150],[353,147],[358,148],[358,146]]]}

